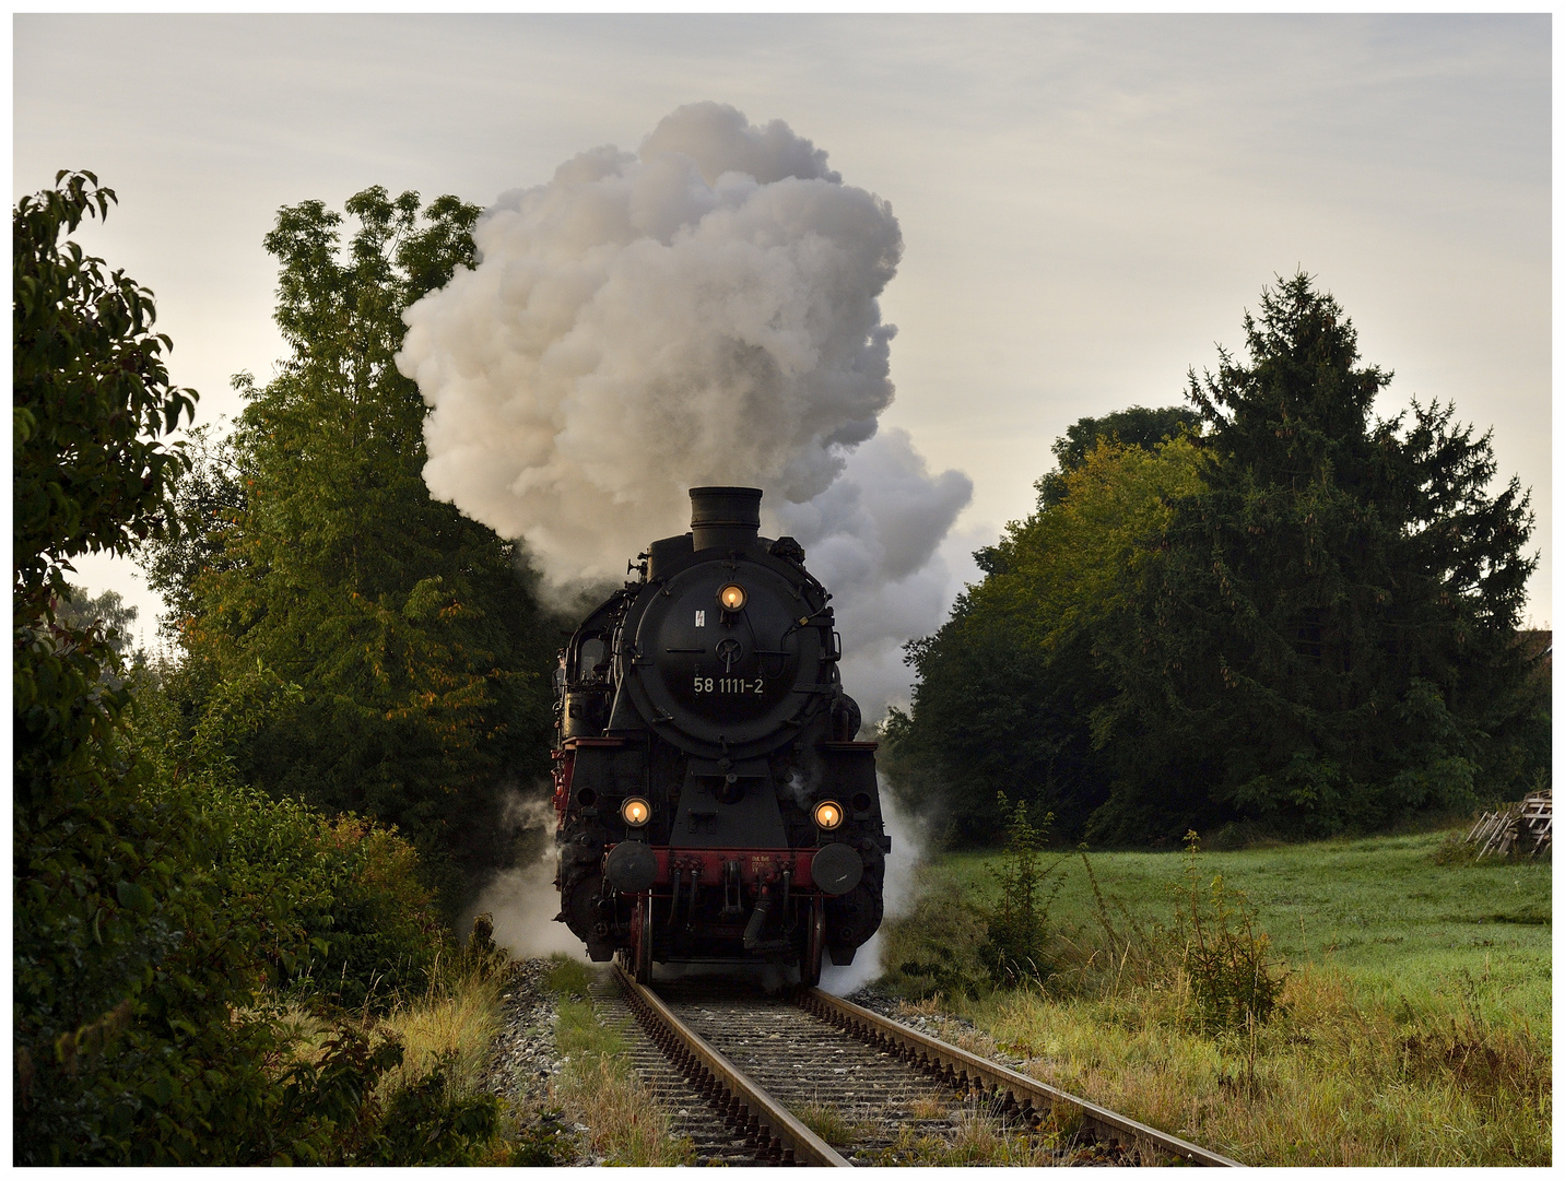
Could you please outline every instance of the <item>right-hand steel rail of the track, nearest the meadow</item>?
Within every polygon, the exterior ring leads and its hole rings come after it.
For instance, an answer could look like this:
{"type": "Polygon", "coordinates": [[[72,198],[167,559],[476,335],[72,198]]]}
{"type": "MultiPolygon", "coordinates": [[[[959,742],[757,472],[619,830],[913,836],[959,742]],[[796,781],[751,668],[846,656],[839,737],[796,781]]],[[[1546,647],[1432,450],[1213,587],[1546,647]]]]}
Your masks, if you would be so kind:
{"type": "Polygon", "coordinates": [[[1053,1116],[1056,1125],[1069,1127],[1080,1121],[1096,1136],[1106,1139],[1125,1138],[1127,1146],[1135,1146],[1144,1163],[1158,1158],[1174,1158],[1180,1163],[1200,1164],[1205,1167],[1243,1167],[1244,1164],[1225,1155],[1208,1152],[1205,1147],[1180,1139],[1177,1135],[1147,1127],[1144,1122],[1127,1119],[1096,1102],[1078,1099],[1063,1089],[1017,1074],[1014,1069],[969,1053],[966,1049],[948,1045],[933,1036],[919,1033],[895,1020],[887,1020],[869,1008],[859,1008],[836,995],[811,988],[800,995],[800,1003],[806,1011],[839,1027],[851,1027],[858,1036],[880,1044],[903,1059],[944,1074],[952,1083],[962,1080],[978,1089],[991,1089],[1002,1099],[1006,1110],[1014,1110],[1030,1124],[1045,1116],[1053,1116]]]}

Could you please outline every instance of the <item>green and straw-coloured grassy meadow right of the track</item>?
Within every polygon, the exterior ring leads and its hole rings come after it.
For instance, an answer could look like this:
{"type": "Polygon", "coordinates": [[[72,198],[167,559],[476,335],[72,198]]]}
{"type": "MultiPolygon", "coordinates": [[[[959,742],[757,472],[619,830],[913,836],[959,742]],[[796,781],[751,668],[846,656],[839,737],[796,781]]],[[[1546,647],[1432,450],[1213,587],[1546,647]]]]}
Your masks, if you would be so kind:
{"type": "Polygon", "coordinates": [[[1440,862],[1444,833],[1200,853],[1269,936],[1279,1003],[1202,1033],[1174,933],[1180,854],[1044,858],[1060,881],[1041,983],[981,983],[975,903],[997,858],[923,872],[886,983],[970,1019],[977,1050],[1249,1164],[1551,1161],[1548,864],[1440,862]],[[1127,953],[1135,948],[1135,953],[1127,953]],[[903,973],[903,962],[937,972],[903,973]]]}

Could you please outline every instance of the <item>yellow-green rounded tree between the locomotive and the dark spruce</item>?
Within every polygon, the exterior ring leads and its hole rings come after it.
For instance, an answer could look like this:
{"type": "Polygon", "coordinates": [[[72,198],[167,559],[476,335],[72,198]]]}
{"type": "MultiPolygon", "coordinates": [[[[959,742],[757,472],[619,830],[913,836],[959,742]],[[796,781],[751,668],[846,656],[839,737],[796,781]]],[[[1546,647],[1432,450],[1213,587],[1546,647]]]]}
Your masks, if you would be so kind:
{"type": "Polygon", "coordinates": [[[890,717],[889,764],[947,837],[991,839],[1008,822],[1002,792],[1053,812],[1069,836],[1106,801],[1113,772],[1094,726],[1117,693],[1099,642],[1130,626],[1166,559],[1157,541],[1171,501],[1197,487],[1196,466],[1185,437],[1100,438],[1050,490],[1039,480],[1038,510],[980,551],[984,581],[939,632],[908,645],[919,684],[912,717],[890,717]]]}

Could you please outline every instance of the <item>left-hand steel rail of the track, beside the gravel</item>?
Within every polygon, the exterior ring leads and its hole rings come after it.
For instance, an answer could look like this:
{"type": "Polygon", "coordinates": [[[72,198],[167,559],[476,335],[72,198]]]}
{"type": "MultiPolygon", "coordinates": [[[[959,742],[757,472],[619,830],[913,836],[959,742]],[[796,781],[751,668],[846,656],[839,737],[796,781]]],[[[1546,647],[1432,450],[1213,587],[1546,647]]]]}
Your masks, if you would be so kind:
{"type": "Polygon", "coordinates": [[[757,1086],[732,1061],[714,1049],[700,1033],[670,1011],[656,992],[637,983],[618,962],[613,964],[620,986],[637,1019],[660,1027],[667,1036],[656,1038],[667,1047],[676,1066],[701,1086],[701,1094],[718,1106],[726,1106],[736,1125],[756,1139],[757,1160],[815,1164],[820,1167],[851,1167],[831,1144],[795,1119],[786,1106],[757,1086]],[[671,1042],[670,1042],[671,1039],[671,1042]]]}

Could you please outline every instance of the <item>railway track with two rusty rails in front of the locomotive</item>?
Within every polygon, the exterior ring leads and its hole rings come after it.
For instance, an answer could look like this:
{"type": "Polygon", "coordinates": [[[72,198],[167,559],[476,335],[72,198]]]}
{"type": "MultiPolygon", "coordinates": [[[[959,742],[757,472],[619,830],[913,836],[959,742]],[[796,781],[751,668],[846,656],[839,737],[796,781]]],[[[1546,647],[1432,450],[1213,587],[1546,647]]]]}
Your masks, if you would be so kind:
{"type": "Polygon", "coordinates": [[[1024,1141],[1031,1164],[1238,1166],[820,989],[645,986],[615,966],[593,994],[639,1030],[632,1064],[704,1163],[903,1163],[909,1139],[955,1144],[986,1122],[1024,1141]]]}

